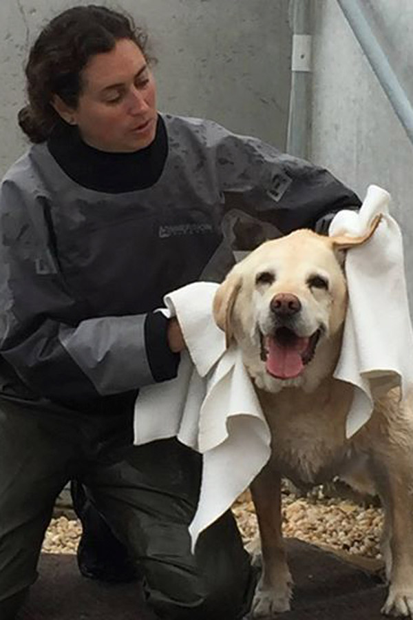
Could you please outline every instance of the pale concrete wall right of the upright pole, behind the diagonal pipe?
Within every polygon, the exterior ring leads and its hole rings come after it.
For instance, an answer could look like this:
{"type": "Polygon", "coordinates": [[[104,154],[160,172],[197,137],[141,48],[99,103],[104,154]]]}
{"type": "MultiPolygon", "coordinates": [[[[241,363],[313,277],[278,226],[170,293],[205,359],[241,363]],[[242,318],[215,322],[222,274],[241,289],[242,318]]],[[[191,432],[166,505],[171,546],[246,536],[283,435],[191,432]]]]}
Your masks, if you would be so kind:
{"type": "MultiPolygon", "coordinates": [[[[413,101],[413,3],[364,0],[381,45],[413,101]]],[[[392,194],[403,229],[413,307],[413,147],[335,0],[315,1],[312,159],[363,196],[392,194]]]]}

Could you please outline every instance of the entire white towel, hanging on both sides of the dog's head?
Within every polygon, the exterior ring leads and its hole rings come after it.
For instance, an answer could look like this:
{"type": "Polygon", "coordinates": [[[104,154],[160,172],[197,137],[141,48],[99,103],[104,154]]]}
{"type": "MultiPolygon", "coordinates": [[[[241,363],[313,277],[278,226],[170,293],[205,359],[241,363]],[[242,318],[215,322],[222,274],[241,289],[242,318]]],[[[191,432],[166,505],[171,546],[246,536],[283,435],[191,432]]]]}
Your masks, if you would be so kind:
{"type": "MultiPolygon", "coordinates": [[[[335,378],[354,386],[348,437],[367,422],[374,397],[401,385],[413,389],[413,331],[398,225],[388,213],[390,195],[370,186],[359,213],[339,211],[330,235],[362,236],[382,214],[365,244],[347,251],[349,304],[335,378]]],[[[218,285],[196,282],[165,296],[167,316],[177,316],[188,351],[176,379],[140,390],[135,406],[136,444],[166,437],[203,455],[202,484],[191,522],[198,535],[253,481],[271,453],[271,435],[253,384],[235,345],[212,318],[218,285]]]]}

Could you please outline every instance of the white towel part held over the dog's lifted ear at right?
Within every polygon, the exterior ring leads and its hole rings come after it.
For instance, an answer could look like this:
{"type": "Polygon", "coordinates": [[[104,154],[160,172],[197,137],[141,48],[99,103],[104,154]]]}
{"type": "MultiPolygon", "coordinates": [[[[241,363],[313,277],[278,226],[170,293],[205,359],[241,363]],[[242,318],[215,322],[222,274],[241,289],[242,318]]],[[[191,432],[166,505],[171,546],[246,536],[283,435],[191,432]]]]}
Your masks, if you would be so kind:
{"type": "Polygon", "coordinates": [[[330,236],[360,236],[382,214],[372,238],[346,256],[348,311],[334,376],[354,385],[348,437],[368,421],[374,397],[381,392],[400,385],[403,399],[413,395],[413,331],[403,245],[389,203],[388,192],[370,185],[359,212],[339,211],[329,229],[330,236]]]}

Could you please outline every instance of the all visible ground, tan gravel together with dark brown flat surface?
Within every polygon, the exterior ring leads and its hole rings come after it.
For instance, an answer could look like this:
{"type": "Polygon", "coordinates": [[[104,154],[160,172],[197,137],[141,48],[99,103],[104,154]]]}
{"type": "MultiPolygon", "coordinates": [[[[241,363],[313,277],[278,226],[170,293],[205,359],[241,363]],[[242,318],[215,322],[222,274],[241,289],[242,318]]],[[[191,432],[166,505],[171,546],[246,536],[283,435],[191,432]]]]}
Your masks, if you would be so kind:
{"type": "MultiPolygon", "coordinates": [[[[304,498],[287,488],[283,510],[295,590],[292,610],[279,620],[382,619],[386,588],[377,559],[381,511],[348,499],[328,499],[320,490],[304,498]]],[[[233,511],[244,541],[251,542],[257,524],[249,493],[233,511]]],[[[139,582],[109,586],[79,575],[74,554],[80,533],[74,519],[52,521],[40,578],[18,620],[153,620],[139,582]]]]}

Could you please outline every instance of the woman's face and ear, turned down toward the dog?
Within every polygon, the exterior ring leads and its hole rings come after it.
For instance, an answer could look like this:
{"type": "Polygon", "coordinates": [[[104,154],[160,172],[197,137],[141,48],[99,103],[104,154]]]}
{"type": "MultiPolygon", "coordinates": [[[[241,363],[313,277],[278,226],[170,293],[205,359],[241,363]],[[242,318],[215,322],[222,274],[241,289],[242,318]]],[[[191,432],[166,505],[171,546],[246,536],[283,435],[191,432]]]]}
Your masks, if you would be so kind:
{"type": "Polygon", "coordinates": [[[92,56],[81,74],[75,110],[59,97],[53,105],[83,140],[103,151],[134,152],[156,134],[156,87],[138,45],[120,39],[114,49],[92,56]]]}

